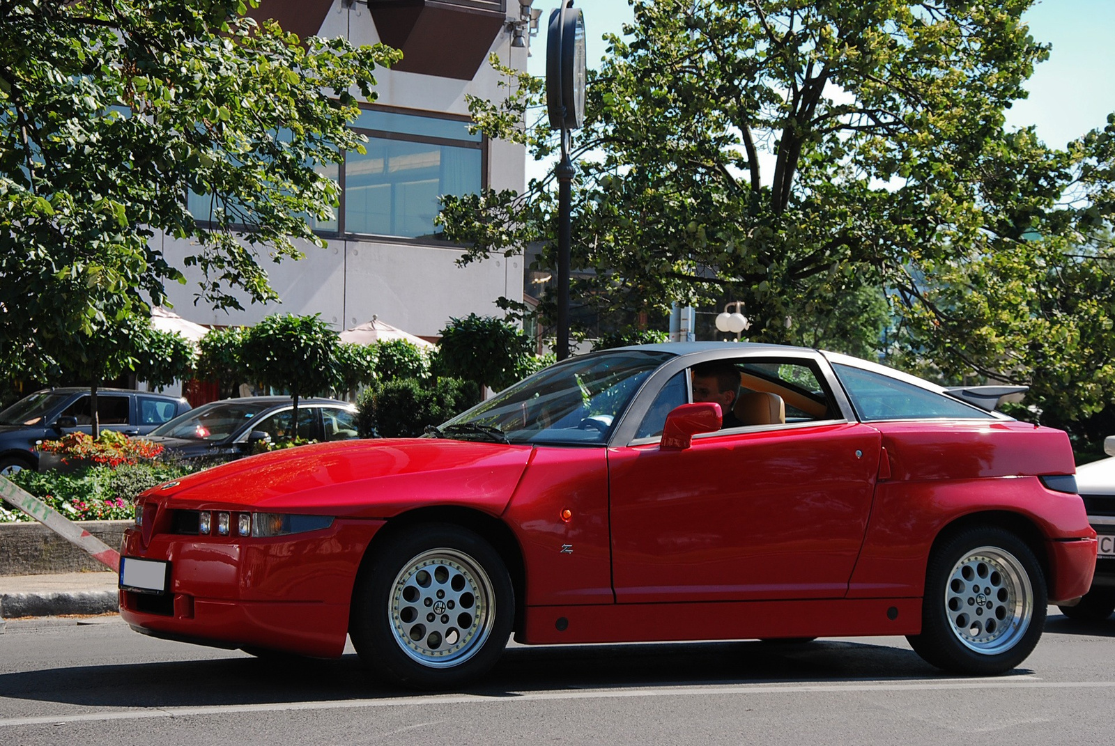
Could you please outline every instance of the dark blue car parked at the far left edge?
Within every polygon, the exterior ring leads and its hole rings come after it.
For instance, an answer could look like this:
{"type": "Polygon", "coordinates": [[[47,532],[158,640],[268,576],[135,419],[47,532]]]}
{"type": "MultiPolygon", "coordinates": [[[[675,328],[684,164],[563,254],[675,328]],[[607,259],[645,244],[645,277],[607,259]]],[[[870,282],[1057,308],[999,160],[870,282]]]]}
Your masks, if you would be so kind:
{"type": "MultiPolygon", "coordinates": [[[[145,435],[190,410],[182,397],[132,389],[97,389],[100,427],[125,435],[145,435]]],[[[68,433],[93,433],[88,388],[42,389],[0,411],[0,474],[39,468],[38,440],[68,433]]]]}

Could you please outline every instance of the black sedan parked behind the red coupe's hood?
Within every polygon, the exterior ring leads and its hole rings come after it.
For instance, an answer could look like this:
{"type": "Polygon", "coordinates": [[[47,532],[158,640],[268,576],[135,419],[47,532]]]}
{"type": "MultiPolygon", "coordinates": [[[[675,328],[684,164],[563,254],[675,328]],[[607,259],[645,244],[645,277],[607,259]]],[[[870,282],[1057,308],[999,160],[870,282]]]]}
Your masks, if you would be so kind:
{"type": "Polygon", "coordinates": [[[307,440],[349,440],[357,437],[356,407],[337,399],[298,401],[289,396],[250,396],[202,405],[162,425],[147,436],[184,459],[221,463],[251,455],[256,444],[293,437],[307,440]]]}

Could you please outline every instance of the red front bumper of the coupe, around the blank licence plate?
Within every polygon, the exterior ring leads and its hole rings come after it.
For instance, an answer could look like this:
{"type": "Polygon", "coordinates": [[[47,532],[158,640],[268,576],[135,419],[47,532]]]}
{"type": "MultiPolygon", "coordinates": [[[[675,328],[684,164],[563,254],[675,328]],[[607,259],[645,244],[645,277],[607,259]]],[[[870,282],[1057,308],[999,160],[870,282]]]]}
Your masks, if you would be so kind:
{"type": "Polygon", "coordinates": [[[129,529],[120,554],[169,562],[171,574],[166,593],[122,590],[120,616],[156,637],[340,656],[357,571],[382,525],[337,520],[270,539],[155,533],[146,545],[129,529]]]}

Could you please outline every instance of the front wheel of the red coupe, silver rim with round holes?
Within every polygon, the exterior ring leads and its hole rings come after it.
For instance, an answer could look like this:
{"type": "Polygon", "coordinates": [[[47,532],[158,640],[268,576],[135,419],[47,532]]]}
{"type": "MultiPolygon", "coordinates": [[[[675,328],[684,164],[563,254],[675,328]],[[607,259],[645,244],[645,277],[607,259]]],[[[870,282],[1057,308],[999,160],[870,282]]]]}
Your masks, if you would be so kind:
{"type": "Polygon", "coordinates": [[[418,525],[365,562],[349,623],[365,665],[407,687],[447,689],[498,660],[515,593],[500,554],[481,536],[452,524],[418,525]]]}

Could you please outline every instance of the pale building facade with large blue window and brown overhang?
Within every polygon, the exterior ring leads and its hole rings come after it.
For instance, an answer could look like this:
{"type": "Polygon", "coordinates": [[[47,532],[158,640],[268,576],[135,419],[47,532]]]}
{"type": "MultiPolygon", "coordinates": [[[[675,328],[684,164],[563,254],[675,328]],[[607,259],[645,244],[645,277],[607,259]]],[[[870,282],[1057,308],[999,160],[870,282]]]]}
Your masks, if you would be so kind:
{"type": "MultiPolygon", "coordinates": [[[[382,41],[405,58],[377,71],[378,98],[361,104],[352,125],[368,137],[367,154],[348,153],[329,172],[342,196],[336,220],[316,226],[328,248],[299,246],[306,259],[297,262],[259,260],[282,302],[249,304],[245,298],[245,310],[229,312],[195,306],[198,275],[187,268],[190,282],[167,288],[174,311],[207,326],[320,313],[338,331],[376,314],[436,338],[450,317],[498,316],[497,298],[522,298],[522,256],[458,267],[464,248],[438,238],[434,217],[442,194],[525,186],[525,149],[469,134],[465,97],[504,95],[489,52],[525,68],[527,49],[512,42],[515,23],[522,32],[529,13],[518,0],[262,0],[253,14],[275,18],[299,36],[382,41]]],[[[535,54],[542,51],[539,45],[535,54]]],[[[196,249],[169,236],[153,241],[180,267],[196,249]]]]}

